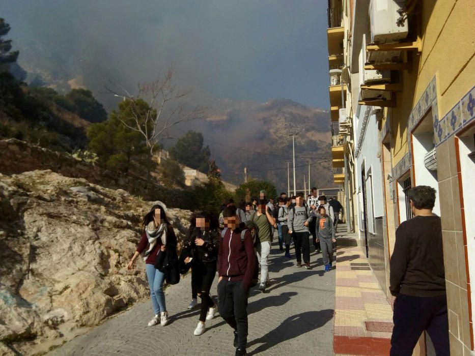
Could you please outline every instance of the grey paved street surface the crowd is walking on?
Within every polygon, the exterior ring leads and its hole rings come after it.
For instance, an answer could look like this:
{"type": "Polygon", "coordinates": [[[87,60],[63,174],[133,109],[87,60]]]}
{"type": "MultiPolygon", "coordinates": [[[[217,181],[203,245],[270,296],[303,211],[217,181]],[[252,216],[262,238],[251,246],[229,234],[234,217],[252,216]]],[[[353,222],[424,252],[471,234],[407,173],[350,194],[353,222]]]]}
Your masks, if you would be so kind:
{"type": "MultiPolygon", "coordinates": [[[[313,251],[313,247],[311,248],[313,251]]],[[[295,255],[292,253],[292,256],[295,255]]],[[[249,296],[248,354],[333,355],[335,272],[324,274],[321,254],[311,254],[313,269],[296,267],[275,243],[270,255],[271,285],[249,296]]],[[[216,295],[216,281],[211,294],[216,295]]],[[[147,327],[153,316],[147,300],[76,337],[52,355],[234,355],[232,329],[216,314],[202,336],[193,336],[199,308],[187,306],[190,277],[166,290],[171,322],[147,327]]]]}

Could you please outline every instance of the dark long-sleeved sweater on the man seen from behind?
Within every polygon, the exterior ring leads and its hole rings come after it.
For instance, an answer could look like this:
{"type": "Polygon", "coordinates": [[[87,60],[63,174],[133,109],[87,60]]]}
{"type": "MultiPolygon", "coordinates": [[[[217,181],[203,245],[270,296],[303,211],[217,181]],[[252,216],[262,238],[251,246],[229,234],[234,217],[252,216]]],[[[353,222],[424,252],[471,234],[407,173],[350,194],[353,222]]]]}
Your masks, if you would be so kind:
{"type": "Polygon", "coordinates": [[[442,228],[438,216],[416,216],[396,230],[390,260],[391,294],[445,294],[442,228]]]}

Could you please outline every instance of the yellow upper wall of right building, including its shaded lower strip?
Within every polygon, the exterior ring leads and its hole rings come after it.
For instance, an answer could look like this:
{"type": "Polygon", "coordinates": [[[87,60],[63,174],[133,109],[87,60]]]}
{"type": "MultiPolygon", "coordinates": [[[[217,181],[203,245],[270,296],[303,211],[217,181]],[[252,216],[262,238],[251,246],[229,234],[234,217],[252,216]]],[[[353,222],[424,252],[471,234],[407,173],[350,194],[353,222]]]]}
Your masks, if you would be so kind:
{"type": "MultiPolygon", "coordinates": [[[[436,76],[437,116],[442,118],[475,83],[475,1],[424,0],[420,15],[422,53],[408,53],[411,69],[401,71],[403,92],[391,112],[393,164],[408,153],[407,120],[436,76]]],[[[384,122],[382,123],[384,125],[384,122]]]]}

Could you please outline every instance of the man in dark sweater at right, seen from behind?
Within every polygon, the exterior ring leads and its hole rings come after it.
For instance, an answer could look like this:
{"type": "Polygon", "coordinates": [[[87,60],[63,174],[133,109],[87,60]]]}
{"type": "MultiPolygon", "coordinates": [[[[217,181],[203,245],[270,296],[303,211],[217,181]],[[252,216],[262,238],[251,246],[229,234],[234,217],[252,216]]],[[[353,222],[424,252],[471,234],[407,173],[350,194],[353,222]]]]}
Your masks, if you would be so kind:
{"type": "Polygon", "coordinates": [[[432,214],[435,189],[417,186],[409,190],[408,198],[414,218],[396,230],[390,260],[389,290],[394,311],[390,355],[410,356],[426,330],[437,356],[448,356],[442,228],[440,218],[432,214]]]}

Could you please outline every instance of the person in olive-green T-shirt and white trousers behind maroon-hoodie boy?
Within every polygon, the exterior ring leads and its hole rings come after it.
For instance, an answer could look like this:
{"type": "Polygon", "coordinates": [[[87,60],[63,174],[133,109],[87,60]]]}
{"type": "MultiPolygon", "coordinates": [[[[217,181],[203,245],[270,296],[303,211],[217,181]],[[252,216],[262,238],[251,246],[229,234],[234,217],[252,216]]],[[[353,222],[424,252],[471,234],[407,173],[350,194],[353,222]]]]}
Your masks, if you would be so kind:
{"type": "Polygon", "coordinates": [[[248,228],[256,229],[256,253],[259,265],[261,266],[261,283],[259,290],[265,291],[269,282],[268,257],[270,254],[270,245],[273,240],[272,226],[276,227],[275,220],[267,209],[267,201],[258,200],[258,211],[254,213],[246,222],[248,228]]]}

